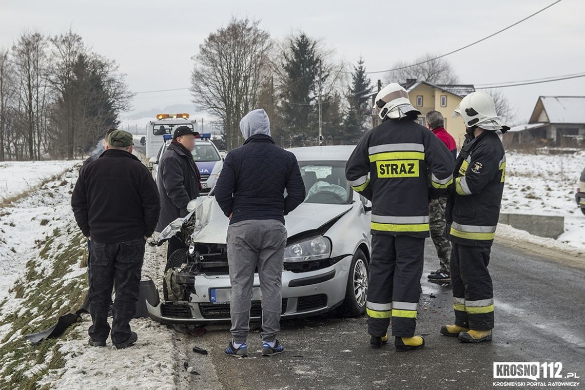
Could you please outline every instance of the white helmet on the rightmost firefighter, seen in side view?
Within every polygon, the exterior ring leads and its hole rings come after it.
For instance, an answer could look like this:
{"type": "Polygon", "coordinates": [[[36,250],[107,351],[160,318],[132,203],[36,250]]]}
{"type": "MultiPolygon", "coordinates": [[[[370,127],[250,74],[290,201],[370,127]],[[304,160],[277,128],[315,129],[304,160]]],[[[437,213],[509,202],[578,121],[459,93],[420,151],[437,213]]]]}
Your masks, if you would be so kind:
{"type": "Polygon", "coordinates": [[[486,92],[472,92],[459,103],[453,116],[461,115],[466,127],[481,127],[484,130],[503,130],[510,127],[504,125],[495,113],[494,99],[486,92]]]}

